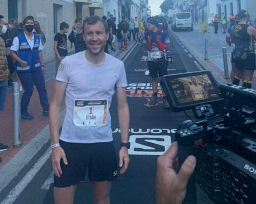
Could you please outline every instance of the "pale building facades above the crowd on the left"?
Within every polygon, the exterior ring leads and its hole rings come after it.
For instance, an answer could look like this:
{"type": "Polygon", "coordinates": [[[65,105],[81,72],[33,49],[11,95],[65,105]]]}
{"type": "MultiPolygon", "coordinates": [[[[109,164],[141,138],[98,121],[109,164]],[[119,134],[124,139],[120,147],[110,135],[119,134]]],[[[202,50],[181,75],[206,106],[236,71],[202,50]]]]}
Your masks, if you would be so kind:
{"type": "MultiPolygon", "coordinates": [[[[65,21],[69,24],[69,33],[76,18],[85,19],[91,15],[106,15],[109,18],[113,14],[116,23],[122,17],[128,19],[138,16],[147,16],[148,0],[0,0],[0,14],[4,21],[18,18],[20,22],[28,16],[41,25],[46,36],[46,44],[43,49],[44,62],[54,59],[53,39],[59,32],[59,25],[65,21]]],[[[68,41],[68,52],[74,52],[68,41]]]]}

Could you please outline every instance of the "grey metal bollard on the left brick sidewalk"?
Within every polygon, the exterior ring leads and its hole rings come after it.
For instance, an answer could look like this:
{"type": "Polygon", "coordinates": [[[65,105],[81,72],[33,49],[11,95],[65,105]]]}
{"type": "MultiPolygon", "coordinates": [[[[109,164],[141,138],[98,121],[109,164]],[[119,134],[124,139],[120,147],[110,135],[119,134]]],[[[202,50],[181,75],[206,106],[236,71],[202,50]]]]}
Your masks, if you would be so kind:
{"type": "Polygon", "coordinates": [[[12,109],[13,109],[13,147],[22,145],[20,139],[20,84],[12,82],[12,109]]]}

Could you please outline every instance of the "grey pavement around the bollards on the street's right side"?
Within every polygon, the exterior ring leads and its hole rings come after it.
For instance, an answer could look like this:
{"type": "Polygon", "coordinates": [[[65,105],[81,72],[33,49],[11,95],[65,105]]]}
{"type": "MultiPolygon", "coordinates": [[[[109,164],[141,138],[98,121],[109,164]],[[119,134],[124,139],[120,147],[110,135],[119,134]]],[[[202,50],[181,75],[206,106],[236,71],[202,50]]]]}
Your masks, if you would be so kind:
{"type": "MultiPolygon", "coordinates": [[[[230,74],[231,48],[226,43],[226,34],[222,33],[221,27],[218,29],[218,34],[214,33],[214,28],[212,26],[209,26],[209,33],[203,33],[199,28],[199,24],[194,22],[194,31],[172,31],[172,33],[177,36],[177,38],[189,50],[189,52],[194,55],[204,69],[217,73],[216,75],[219,78],[222,78],[220,79],[222,81],[223,78],[225,78],[222,47],[226,47],[228,57],[228,72],[230,74]],[[204,60],[205,38],[208,39],[208,60],[204,60]]],[[[230,83],[230,79],[225,80],[230,83]]],[[[252,81],[252,88],[256,89],[256,73],[254,73],[252,81]]]]}

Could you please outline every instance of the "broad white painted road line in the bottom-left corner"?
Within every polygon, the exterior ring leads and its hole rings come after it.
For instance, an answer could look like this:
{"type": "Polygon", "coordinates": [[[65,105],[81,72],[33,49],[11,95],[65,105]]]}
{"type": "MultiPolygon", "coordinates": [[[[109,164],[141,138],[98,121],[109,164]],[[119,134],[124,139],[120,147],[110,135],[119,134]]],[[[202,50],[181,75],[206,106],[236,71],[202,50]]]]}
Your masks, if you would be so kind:
{"type": "Polygon", "coordinates": [[[12,204],[26,188],[26,186],[34,179],[35,175],[39,172],[42,166],[50,158],[52,151],[48,148],[43,156],[39,158],[37,163],[29,170],[29,172],[21,179],[21,181],[11,190],[8,196],[1,202],[1,204],[12,204]]]}

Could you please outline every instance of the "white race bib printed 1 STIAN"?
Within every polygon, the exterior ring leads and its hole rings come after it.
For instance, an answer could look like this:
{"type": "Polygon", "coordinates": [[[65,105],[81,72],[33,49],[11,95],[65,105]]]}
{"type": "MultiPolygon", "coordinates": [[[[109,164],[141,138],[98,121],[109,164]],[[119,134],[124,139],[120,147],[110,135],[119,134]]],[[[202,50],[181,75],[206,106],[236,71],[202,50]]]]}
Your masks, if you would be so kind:
{"type": "Polygon", "coordinates": [[[75,100],[73,122],[78,127],[106,125],[107,114],[107,99],[75,100]]]}

